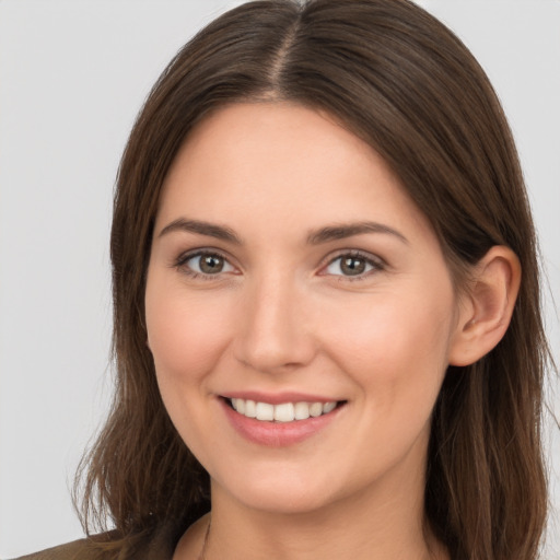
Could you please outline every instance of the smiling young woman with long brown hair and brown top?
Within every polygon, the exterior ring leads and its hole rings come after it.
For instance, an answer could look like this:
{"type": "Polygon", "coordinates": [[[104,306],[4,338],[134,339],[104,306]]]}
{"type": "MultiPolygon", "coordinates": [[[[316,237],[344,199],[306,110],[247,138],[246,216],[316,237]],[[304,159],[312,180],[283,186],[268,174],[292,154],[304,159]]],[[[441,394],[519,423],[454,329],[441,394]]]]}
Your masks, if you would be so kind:
{"type": "Polygon", "coordinates": [[[132,130],[112,258],[83,511],[116,529],[47,558],[536,558],[535,234],[487,78],[421,9],[211,23],[132,130]]]}

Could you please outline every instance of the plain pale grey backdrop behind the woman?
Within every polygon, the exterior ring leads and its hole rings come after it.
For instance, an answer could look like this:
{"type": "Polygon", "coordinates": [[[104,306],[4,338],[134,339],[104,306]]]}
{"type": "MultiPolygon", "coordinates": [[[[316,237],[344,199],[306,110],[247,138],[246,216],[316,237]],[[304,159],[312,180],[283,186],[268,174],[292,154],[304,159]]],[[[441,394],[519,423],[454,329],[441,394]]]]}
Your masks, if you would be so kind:
{"type": "MultiPolygon", "coordinates": [[[[82,536],[69,488],[112,393],[108,232],[120,153],[167,61],[238,3],[0,0],[1,558],[82,536]]],[[[503,101],[559,300],[560,1],[419,3],[463,38],[503,101]]],[[[550,293],[547,324],[558,350],[550,293]]],[[[560,416],[558,390],[549,398],[560,416]]],[[[547,434],[557,516],[558,431],[547,434]]],[[[556,523],[547,559],[560,558],[556,523]]]]}

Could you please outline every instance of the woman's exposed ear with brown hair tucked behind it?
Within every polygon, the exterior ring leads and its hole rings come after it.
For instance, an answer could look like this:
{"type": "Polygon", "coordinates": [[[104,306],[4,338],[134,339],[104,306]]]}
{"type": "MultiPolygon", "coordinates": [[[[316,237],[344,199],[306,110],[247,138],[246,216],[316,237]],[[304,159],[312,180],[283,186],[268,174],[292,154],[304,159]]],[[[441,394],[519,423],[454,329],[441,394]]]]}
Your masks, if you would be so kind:
{"type": "Polygon", "coordinates": [[[475,363],[500,342],[520,291],[520,259],[509,247],[492,247],[472,272],[470,290],[460,302],[450,365],[475,363]]]}

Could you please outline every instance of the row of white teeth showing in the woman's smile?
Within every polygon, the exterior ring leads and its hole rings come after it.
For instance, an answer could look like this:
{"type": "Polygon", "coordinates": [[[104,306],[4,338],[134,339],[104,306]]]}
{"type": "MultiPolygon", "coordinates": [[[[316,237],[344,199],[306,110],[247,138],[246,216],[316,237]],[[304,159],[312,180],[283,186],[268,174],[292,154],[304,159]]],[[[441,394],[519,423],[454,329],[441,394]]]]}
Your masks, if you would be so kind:
{"type": "Polygon", "coordinates": [[[269,402],[256,402],[243,398],[232,398],[232,407],[247,418],[256,418],[267,422],[293,422],[306,420],[310,417],[317,418],[328,415],[337,407],[336,400],[328,402],[282,402],[270,405],[269,402]]]}

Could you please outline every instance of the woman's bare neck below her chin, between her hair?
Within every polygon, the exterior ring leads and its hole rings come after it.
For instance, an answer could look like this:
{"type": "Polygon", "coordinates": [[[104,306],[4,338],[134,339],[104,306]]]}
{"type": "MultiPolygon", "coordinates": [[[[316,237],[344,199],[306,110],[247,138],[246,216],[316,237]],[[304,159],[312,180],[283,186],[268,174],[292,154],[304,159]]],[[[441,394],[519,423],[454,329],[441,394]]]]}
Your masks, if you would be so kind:
{"type": "MultiPolygon", "coordinates": [[[[371,489],[373,493],[375,490],[371,489]]],[[[370,492],[363,492],[316,511],[279,513],[247,508],[213,483],[211,527],[203,558],[447,558],[425,529],[422,492],[411,497],[408,485],[394,490],[373,502],[370,492]]],[[[199,542],[202,548],[202,538],[199,542]]]]}

